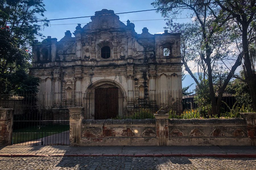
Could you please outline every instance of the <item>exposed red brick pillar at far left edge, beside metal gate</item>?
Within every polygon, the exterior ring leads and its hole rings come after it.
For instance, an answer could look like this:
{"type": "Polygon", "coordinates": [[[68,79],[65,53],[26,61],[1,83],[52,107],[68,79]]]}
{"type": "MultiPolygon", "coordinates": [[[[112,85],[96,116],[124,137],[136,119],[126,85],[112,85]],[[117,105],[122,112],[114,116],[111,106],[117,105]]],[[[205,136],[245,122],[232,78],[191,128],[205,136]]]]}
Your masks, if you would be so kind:
{"type": "Polygon", "coordinates": [[[0,146],[12,144],[13,109],[0,109],[0,146]]]}

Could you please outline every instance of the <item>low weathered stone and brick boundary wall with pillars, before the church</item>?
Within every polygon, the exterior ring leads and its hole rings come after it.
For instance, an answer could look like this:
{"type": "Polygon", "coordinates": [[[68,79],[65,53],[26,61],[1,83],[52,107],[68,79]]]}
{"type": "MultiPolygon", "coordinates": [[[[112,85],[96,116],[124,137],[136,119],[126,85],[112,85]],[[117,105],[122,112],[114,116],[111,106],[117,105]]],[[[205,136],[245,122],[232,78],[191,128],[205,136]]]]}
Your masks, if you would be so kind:
{"type": "Polygon", "coordinates": [[[83,119],[84,108],[70,108],[72,146],[255,146],[256,113],[231,119],[83,119]]]}

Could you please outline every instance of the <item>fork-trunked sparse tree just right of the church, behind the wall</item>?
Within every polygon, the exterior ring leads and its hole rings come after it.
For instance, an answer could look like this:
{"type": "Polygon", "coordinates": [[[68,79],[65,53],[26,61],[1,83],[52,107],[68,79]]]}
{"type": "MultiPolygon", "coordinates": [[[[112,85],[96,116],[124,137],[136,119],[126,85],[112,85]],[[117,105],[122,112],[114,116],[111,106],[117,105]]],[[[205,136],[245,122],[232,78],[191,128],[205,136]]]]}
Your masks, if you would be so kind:
{"type": "MultiPolygon", "coordinates": [[[[152,3],[152,5],[157,8],[163,8],[157,11],[160,11],[162,16],[169,18],[176,17],[176,15],[180,14],[183,10],[191,11],[191,17],[194,17],[191,25],[175,24],[180,27],[178,27],[179,29],[184,28],[183,35],[191,36],[192,33],[194,38],[194,40],[191,40],[185,36],[183,44],[184,46],[181,44],[181,53],[183,50],[183,54],[186,55],[182,57],[182,61],[185,65],[185,70],[188,71],[188,73],[195,80],[198,88],[201,88],[201,81],[207,79],[212,115],[220,115],[220,105],[223,92],[228,82],[232,78],[235,70],[239,65],[241,65],[240,56],[242,53],[236,56],[235,59],[230,55],[229,47],[234,41],[232,27],[230,27],[230,23],[227,22],[230,19],[230,16],[226,16],[226,19],[223,20],[220,9],[215,4],[209,4],[209,2],[214,1],[156,0],[152,3]],[[195,33],[193,30],[190,32],[187,31],[187,28],[189,27],[193,27],[195,33]],[[193,45],[193,49],[187,47],[188,43],[193,45]],[[188,53],[191,51],[195,51],[195,54],[193,54],[193,52],[191,54],[188,53]],[[189,54],[189,56],[187,56],[187,54],[189,54]],[[225,61],[227,62],[227,60],[235,60],[231,68],[226,68],[223,66],[223,63],[225,61]],[[197,69],[201,70],[199,73],[203,76],[196,77],[192,73],[191,68],[186,64],[189,61],[194,61],[196,63],[197,69]],[[226,72],[226,69],[229,69],[230,71],[226,72]]],[[[170,26],[170,29],[174,28],[175,26],[170,26]]],[[[181,35],[181,37],[183,35],[181,35]]],[[[183,43],[182,40],[181,43],[183,43]]]]}

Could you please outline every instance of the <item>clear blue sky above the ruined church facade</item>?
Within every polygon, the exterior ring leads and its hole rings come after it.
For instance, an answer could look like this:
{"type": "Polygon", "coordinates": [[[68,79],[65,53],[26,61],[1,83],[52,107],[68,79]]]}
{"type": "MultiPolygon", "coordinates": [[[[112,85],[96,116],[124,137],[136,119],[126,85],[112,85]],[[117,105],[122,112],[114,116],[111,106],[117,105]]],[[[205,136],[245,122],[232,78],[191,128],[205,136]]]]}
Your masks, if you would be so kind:
{"type": "MultiPolygon", "coordinates": [[[[45,17],[48,19],[56,18],[70,18],[78,16],[91,16],[94,15],[95,11],[102,9],[114,10],[115,13],[119,12],[129,12],[136,10],[146,10],[153,9],[154,7],[150,4],[153,0],[45,0],[46,5],[45,17]]],[[[129,14],[119,14],[120,21],[127,21],[128,19],[133,22],[133,20],[152,20],[152,19],[164,19],[160,13],[155,11],[137,12],[129,14]]],[[[184,18],[186,14],[183,13],[177,18],[184,18]]],[[[70,24],[70,25],[49,25],[45,27],[41,33],[44,36],[51,36],[52,38],[57,38],[58,41],[64,37],[66,30],[70,30],[71,33],[74,32],[77,24],[81,24],[83,27],[91,19],[89,18],[79,18],[79,19],[69,19],[69,20],[58,20],[51,21],[50,24],[70,24]],[[74,24],[72,24],[74,23],[74,24]]],[[[190,22],[190,19],[174,19],[174,22],[190,22]]],[[[124,22],[126,24],[126,22],[124,22]]],[[[143,27],[147,27],[149,33],[155,34],[164,31],[164,26],[166,21],[164,20],[154,20],[154,21],[134,21],[135,31],[137,33],[142,33],[143,27]]],[[[39,41],[42,41],[39,39],[39,41]]],[[[183,81],[183,86],[191,84],[191,76],[187,75],[183,81]]]]}

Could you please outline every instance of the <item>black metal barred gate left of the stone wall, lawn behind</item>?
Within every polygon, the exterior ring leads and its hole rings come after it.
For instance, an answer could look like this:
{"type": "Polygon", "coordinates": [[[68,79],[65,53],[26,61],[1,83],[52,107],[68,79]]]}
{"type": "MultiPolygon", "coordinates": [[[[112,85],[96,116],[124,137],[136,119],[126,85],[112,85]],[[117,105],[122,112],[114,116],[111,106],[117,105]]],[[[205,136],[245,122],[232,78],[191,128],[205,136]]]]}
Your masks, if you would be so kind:
{"type": "Polygon", "coordinates": [[[54,97],[1,95],[0,107],[14,109],[12,145],[69,145],[69,110],[53,105],[54,97]]]}

